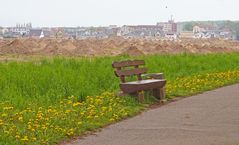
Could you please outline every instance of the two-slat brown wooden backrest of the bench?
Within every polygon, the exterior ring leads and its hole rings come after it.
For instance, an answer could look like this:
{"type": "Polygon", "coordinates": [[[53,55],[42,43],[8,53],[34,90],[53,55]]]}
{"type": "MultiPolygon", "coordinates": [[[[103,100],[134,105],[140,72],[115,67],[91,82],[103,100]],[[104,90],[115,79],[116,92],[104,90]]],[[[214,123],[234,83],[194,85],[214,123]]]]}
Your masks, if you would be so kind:
{"type": "Polygon", "coordinates": [[[140,68],[145,65],[144,60],[127,60],[113,62],[112,67],[115,68],[115,75],[120,77],[122,83],[125,83],[125,77],[136,75],[138,80],[142,80],[141,74],[147,72],[147,68],[140,68]]]}

